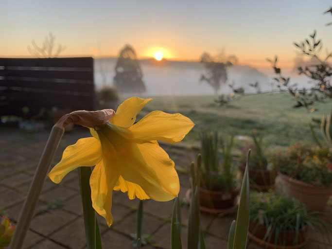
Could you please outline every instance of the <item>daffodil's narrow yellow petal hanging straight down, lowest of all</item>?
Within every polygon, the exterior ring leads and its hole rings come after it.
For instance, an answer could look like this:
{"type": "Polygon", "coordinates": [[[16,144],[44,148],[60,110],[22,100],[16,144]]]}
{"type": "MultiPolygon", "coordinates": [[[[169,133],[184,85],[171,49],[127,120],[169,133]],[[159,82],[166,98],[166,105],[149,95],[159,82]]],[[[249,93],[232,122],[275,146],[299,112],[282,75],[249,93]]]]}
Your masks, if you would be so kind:
{"type": "Polygon", "coordinates": [[[90,177],[92,207],[105,218],[108,226],[113,223],[112,191],[118,178],[119,172],[105,158],[96,164],[90,177]]]}

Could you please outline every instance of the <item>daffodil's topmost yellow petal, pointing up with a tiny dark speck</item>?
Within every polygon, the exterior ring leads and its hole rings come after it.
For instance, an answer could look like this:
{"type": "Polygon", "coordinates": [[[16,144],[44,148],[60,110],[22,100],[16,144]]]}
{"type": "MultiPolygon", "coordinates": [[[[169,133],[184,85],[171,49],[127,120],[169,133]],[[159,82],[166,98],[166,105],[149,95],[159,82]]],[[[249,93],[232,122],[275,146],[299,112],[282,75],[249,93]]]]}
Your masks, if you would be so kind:
{"type": "Polygon", "coordinates": [[[121,127],[130,127],[135,123],[136,116],[140,110],[151,100],[153,99],[131,97],[123,101],[110,122],[121,127]]]}

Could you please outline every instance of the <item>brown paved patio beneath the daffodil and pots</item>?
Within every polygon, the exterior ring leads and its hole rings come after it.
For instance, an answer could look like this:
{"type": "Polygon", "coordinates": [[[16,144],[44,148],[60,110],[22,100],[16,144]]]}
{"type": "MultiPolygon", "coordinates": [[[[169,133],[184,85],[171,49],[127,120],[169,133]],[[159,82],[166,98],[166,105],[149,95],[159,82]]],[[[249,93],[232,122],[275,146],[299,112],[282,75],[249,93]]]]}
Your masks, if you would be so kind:
{"type": "MultiPolygon", "coordinates": [[[[0,129],[0,213],[7,215],[12,221],[17,221],[29,184],[49,131],[28,133],[19,129],[0,129]]],[[[85,128],[76,128],[65,133],[53,165],[61,159],[63,150],[77,139],[89,137],[85,128]]],[[[174,145],[163,145],[177,167],[188,168],[195,159],[196,151],[174,145]]],[[[179,172],[180,194],[184,199],[190,187],[189,177],[179,172]]],[[[187,225],[189,207],[182,202],[182,243],[187,246],[187,225]]],[[[136,210],[138,200],[129,200],[127,195],[113,192],[112,214],[113,225],[108,228],[105,220],[100,218],[103,248],[130,249],[133,248],[131,234],[136,232],[136,210]]],[[[173,201],[144,202],[143,233],[147,234],[147,244],[143,249],[169,249],[170,217],[173,201]]],[[[79,193],[77,171],[68,174],[60,184],[55,184],[48,178],[42,189],[30,230],[27,234],[24,249],[84,249],[86,248],[82,204],[79,193]]],[[[223,217],[202,213],[202,227],[206,231],[207,249],[226,249],[227,235],[234,213],[223,217]]],[[[326,238],[312,236],[307,248],[329,248],[326,238]]],[[[258,247],[249,242],[249,249],[258,247]]],[[[331,247],[330,247],[331,248],[331,247]]]]}

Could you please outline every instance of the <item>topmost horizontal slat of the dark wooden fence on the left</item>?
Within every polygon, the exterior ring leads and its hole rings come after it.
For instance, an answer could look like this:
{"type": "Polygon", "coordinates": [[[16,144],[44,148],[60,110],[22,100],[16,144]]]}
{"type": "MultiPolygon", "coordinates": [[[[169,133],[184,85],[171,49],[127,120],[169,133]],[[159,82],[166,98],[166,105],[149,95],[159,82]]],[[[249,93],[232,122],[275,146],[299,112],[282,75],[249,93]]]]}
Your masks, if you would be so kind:
{"type": "Polygon", "coordinates": [[[0,58],[0,66],[93,68],[93,58],[0,58]]]}

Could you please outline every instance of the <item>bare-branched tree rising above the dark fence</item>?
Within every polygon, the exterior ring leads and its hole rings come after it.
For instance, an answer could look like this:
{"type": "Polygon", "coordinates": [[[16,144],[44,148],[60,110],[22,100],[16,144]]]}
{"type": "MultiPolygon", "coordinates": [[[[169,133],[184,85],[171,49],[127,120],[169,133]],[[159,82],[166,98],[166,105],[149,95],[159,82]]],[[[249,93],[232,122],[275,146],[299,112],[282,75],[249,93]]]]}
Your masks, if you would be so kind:
{"type": "Polygon", "coordinates": [[[45,39],[39,47],[35,41],[33,40],[32,47],[28,46],[28,51],[31,55],[34,55],[38,58],[44,57],[44,58],[52,58],[58,56],[62,51],[66,49],[66,46],[63,46],[61,44],[58,44],[57,49],[53,53],[53,49],[55,48],[55,36],[50,32],[48,36],[45,36],[45,39]]]}

